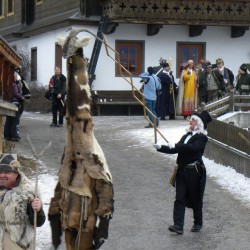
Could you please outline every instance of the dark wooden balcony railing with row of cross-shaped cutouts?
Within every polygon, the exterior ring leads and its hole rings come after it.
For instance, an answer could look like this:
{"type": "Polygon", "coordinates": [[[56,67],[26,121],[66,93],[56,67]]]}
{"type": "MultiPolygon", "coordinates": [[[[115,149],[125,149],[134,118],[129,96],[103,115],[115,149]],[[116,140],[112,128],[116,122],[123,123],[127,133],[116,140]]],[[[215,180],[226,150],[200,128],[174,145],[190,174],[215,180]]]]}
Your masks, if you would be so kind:
{"type": "Polygon", "coordinates": [[[103,13],[116,22],[248,26],[250,0],[104,1],[103,13]]]}

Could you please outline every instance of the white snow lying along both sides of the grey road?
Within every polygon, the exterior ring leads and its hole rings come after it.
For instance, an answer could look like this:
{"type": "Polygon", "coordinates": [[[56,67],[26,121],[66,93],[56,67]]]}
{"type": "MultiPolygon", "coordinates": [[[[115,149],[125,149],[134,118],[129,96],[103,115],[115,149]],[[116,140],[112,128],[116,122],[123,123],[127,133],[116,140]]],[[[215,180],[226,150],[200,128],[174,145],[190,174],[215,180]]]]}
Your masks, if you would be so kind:
{"type": "MultiPolygon", "coordinates": [[[[160,132],[170,142],[178,142],[180,137],[185,133],[187,124],[179,123],[175,127],[165,127],[164,124],[160,126],[160,132]]],[[[129,131],[123,131],[122,136],[124,138],[133,138],[134,144],[129,147],[148,147],[155,152],[153,148],[154,132],[153,129],[131,129],[129,131]]],[[[164,144],[165,141],[158,135],[158,143],[164,144]]],[[[157,152],[155,152],[157,153],[157,152]]],[[[171,157],[176,159],[176,155],[159,154],[159,157],[171,157]]],[[[213,160],[209,160],[203,157],[204,163],[207,169],[207,175],[216,181],[223,189],[232,193],[236,199],[241,200],[246,205],[250,206],[250,179],[244,175],[237,173],[230,166],[223,166],[215,163],[213,160]]],[[[44,166],[46,168],[46,166],[44,166]]],[[[50,199],[53,196],[54,190],[51,187],[55,187],[57,182],[57,176],[51,176],[49,174],[41,174],[39,176],[39,188],[42,193],[42,199],[44,203],[44,210],[46,215],[48,214],[48,207],[50,199]]],[[[48,249],[51,244],[51,231],[49,221],[46,220],[45,225],[37,229],[37,250],[48,249]],[[48,243],[49,242],[49,243],[48,243]]]]}

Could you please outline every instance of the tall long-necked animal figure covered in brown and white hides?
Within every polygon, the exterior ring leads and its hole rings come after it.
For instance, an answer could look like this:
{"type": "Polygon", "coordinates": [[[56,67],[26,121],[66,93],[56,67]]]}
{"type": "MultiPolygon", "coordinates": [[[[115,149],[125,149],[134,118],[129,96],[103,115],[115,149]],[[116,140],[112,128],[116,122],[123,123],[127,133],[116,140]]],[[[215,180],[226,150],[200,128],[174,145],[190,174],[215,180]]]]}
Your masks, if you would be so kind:
{"type": "Polygon", "coordinates": [[[49,220],[55,248],[65,232],[67,250],[98,249],[108,237],[113,184],[104,153],[93,132],[91,93],[79,29],[60,39],[67,58],[67,138],[49,220]]]}

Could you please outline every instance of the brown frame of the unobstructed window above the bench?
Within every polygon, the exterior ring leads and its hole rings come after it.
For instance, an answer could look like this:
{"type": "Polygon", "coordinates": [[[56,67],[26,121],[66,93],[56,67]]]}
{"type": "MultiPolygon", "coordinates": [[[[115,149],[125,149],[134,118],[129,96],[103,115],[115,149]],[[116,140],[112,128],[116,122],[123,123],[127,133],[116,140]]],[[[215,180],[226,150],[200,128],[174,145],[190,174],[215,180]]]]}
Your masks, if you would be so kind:
{"type": "MultiPolygon", "coordinates": [[[[141,72],[144,71],[144,61],[145,61],[145,41],[144,40],[116,40],[115,41],[115,49],[120,54],[120,47],[121,46],[128,46],[129,48],[137,48],[137,57],[136,57],[136,70],[130,71],[133,77],[138,76],[141,72]]],[[[118,59],[118,58],[116,58],[118,59]]],[[[120,61],[122,60],[120,55],[120,61]]],[[[121,65],[124,66],[121,62],[121,65]]],[[[129,66],[128,66],[129,67],[129,66]]],[[[126,68],[126,67],[125,67],[126,68]]],[[[129,69],[127,69],[129,71],[129,69]]],[[[123,72],[124,76],[127,76],[126,72],[123,72]]],[[[122,74],[119,72],[119,67],[115,65],[115,76],[121,77],[122,74]]]]}

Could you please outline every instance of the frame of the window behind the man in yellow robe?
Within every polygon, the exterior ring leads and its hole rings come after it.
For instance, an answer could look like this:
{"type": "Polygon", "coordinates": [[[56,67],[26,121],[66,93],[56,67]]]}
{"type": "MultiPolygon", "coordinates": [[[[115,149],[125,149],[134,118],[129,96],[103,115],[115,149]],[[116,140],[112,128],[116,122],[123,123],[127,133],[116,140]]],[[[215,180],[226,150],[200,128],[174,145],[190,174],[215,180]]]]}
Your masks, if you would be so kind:
{"type": "MultiPolygon", "coordinates": [[[[176,43],[176,77],[181,76],[181,64],[184,63],[181,58],[181,49],[182,48],[195,48],[198,50],[198,59],[197,62],[194,60],[194,65],[197,66],[200,61],[206,58],[206,43],[205,42],[177,42],[176,43]]],[[[192,58],[189,58],[192,59],[192,58]]]]}

